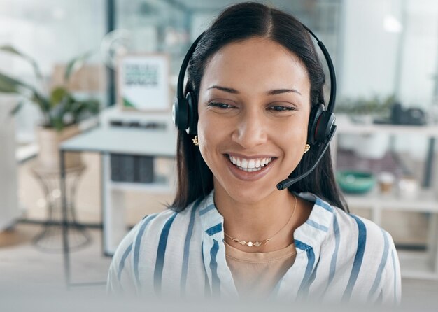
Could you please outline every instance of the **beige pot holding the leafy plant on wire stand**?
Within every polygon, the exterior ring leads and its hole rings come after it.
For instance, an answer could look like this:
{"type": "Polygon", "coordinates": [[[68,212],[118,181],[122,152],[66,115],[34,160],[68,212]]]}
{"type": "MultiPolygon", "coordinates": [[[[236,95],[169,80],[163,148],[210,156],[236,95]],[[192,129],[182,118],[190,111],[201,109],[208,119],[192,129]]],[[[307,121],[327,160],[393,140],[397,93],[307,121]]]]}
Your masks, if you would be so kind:
{"type": "MultiPolygon", "coordinates": [[[[66,139],[80,133],[78,125],[65,127],[61,132],[52,128],[38,127],[36,136],[38,141],[38,165],[45,171],[59,171],[59,144],[66,139]]],[[[82,165],[80,153],[66,153],[65,167],[72,168],[82,165]]]]}

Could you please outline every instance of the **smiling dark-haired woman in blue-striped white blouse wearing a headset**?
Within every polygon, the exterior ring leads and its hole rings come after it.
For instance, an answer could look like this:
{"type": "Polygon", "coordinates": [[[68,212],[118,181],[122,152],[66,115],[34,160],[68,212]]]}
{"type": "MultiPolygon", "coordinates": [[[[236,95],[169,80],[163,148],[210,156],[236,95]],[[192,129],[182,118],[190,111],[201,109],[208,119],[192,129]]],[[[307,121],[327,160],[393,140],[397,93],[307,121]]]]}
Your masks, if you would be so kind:
{"type": "Polygon", "coordinates": [[[393,240],[348,214],[330,153],[313,139],[325,78],[309,32],[280,10],[241,3],[194,48],[185,91],[199,117],[191,108],[189,134],[178,132],[176,198],[122,241],[108,289],[398,302],[393,240]]]}

